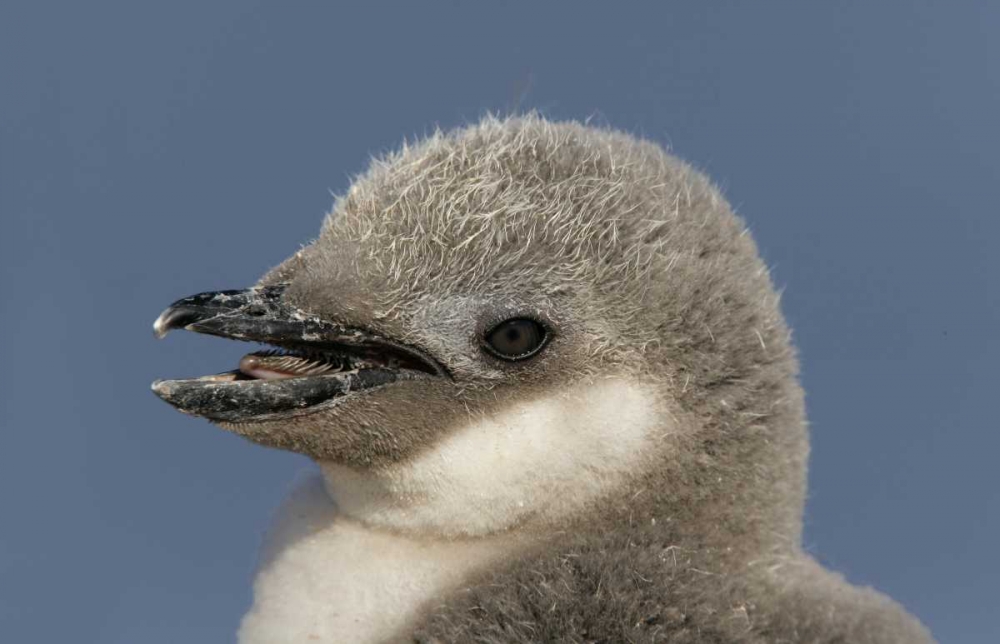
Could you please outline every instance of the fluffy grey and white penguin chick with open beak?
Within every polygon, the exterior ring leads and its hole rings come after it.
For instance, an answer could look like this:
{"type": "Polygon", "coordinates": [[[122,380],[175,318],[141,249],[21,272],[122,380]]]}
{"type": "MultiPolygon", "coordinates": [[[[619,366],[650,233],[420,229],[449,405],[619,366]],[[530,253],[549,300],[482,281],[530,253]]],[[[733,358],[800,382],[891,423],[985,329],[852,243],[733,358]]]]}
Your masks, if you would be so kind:
{"type": "Polygon", "coordinates": [[[932,641],[803,552],[778,296],[657,145],[536,115],[437,133],[175,328],[276,350],[161,398],[321,472],[241,642],[932,641]]]}

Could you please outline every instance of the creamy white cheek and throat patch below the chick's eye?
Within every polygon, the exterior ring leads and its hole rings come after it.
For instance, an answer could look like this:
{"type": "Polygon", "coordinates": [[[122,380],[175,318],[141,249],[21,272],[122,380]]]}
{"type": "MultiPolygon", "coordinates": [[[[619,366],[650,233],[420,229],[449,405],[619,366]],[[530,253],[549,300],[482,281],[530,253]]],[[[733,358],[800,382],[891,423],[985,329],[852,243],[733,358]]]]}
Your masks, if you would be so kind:
{"type": "Polygon", "coordinates": [[[344,514],[408,533],[476,536],[558,520],[641,470],[671,431],[653,391],[608,378],[517,403],[401,465],[321,463],[327,489],[344,514]]]}

